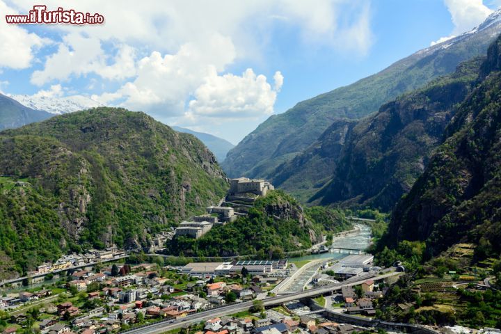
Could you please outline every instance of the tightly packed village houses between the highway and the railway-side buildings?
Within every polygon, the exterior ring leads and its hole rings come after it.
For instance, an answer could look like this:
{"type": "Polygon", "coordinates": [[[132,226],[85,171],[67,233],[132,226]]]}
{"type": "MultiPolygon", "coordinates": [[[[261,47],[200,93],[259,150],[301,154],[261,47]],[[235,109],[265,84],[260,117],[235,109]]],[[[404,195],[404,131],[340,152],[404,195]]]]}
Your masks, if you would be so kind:
{"type": "MultiPolygon", "coordinates": [[[[82,306],[81,301],[78,305],[71,301],[56,303],[52,310],[45,311],[51,317],[40,322],[41,333],[110,333],[134,324],[138,317],[179,319],[198,310],[267,294],[252,282],[250,286],[242,286],[214,282],[213,278],[192,278],[189,283],[183,283],[183,290],[180,290],[169,285],[168,279],[162,278],[156,268],[156,264],[140,264],[132,268],[124,264],[102,268],[100,272],[87,269],[72,272],[67,277],[67,289],[73,294],[86,292],[86,301],[92,301],[91,305],[95,307],[82,306]],[[228,295],[231,295],[230,299],[228,295]]],[[[180,277],[170,276],[169,283],[180,277]]],[[[35,302],[51,294],[49,289],[10,294],[0,300],[0,305],[14,310],[19,304],[35,302]]],[[[25,326],[26,319],[28,315],[18,314],[10,322],[25,326]]],[[[13,329],[6,328],[6,331],[13,329]]]]}

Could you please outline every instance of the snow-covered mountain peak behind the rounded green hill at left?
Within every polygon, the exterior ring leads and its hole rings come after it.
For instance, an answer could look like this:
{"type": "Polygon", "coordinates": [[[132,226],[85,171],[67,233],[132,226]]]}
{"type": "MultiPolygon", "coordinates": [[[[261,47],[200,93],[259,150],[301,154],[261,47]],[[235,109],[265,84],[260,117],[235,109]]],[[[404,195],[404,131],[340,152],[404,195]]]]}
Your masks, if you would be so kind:
{"type": "Polygon", "coordinates": [[[20,104],[28,106],[31,109],[43,110],[48,113],[61,115],[62,113],[72,113],[74,111],[95,108],[103,106],[99,102],[91,100],[84,95],[72,95],[67,97],[48,97],[35,95],[10,95],[20,104]]]}

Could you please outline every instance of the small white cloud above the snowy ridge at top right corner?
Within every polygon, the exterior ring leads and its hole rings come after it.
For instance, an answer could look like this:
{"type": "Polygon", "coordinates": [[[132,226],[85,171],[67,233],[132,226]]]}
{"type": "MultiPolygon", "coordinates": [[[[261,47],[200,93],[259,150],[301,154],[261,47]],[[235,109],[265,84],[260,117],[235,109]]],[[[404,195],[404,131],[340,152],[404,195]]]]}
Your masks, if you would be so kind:
{"type": "Polygon", "coordinates": [[[431,42],[431,46],[445,42],[456,35],[466,33],[475,28],[493,11],[484,5],[482,0],[444,0],[445,6],[451,15],[454,29],[448,37],[442,37],[431,42]]]}

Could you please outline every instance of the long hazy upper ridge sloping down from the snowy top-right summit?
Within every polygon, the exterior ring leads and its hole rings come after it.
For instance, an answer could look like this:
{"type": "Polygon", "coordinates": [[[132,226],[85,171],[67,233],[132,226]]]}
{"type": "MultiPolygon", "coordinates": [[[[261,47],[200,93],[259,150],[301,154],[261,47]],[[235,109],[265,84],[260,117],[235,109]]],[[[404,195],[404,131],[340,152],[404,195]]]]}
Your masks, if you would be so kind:
{"type": "Polygon", "coordinates": [[[484,54],[500,31],[500,22],[486,19],[476,31],[418,51],[354,84],[299,102],[248,134],[228,152],[222,167],[230,177],[271,179],[280,164],[315,143],[333,122],[363,118],[402,93],[454,72],[459,63],[484,54]]]}

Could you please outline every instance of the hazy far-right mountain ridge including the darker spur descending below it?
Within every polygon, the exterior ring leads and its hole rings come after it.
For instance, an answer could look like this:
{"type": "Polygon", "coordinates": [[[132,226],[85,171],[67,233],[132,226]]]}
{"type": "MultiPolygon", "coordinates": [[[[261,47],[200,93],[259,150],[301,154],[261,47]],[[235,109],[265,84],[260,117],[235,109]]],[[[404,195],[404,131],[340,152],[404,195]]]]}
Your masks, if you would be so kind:
{"type": "Polygon", "coordinates": [[[468,33],[417,51],[377,74],[271,116],[228,152],[223,169],[230,177],[276,178],[276,185],[283,184],[302,200],[308,199],[333,178],[337,155],[353,127],[351,120],[364,118],[402,93],[422,88],[454,72],[459,63],[485,54],[501,32],[500,17],[498,10],[468,33]],[[337,144],[331,147],[323,143],[324,138],[337,144]],[[314,161],[321,161],[321,168],[314,161]],[[308,177],[310,174],[315,177],[308,177]]]}

